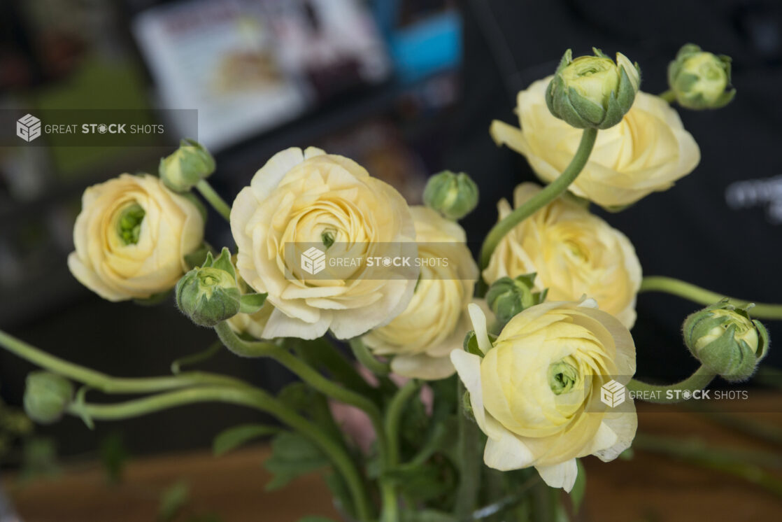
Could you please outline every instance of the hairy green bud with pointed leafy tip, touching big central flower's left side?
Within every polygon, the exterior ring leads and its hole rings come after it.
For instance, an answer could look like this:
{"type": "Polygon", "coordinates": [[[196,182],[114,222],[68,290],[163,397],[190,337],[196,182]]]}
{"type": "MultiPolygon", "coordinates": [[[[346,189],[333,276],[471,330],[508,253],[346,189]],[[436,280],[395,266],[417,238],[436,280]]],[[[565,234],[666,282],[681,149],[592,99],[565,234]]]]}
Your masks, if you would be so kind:
{"type": "Polygon", "coordinates": [[[176,294],[179,309],[200,326],[215,326],[238,314],[242,293],[228,248],[217,259],[207,254],[202,267],[183,275],[176,294]]]}

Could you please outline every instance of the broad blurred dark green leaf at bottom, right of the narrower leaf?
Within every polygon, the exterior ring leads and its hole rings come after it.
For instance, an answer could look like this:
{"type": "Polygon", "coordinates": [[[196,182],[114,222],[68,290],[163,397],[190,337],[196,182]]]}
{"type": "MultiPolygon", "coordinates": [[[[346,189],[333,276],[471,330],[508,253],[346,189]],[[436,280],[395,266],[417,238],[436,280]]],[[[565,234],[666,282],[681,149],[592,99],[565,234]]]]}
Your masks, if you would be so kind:
{"type": "Polygon", "coordinates": [[[264,463],[274,478],[266,485],[267,491],[282,488],[296,477],[328,466],[328,459],[307,438],[282,432],[271,443],[271,457],[264,463]]]}

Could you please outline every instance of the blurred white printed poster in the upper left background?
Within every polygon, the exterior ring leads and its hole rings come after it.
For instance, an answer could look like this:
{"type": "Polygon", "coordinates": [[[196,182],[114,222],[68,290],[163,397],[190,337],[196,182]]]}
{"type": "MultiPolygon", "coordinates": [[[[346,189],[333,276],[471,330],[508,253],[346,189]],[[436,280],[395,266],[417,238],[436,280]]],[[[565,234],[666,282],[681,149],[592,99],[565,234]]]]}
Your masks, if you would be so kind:
{"type": "Polygon", "coordinates": [[[198,109],[213,150],[390,74],[358,0],[185,0],[139,13],[133,32],[163,108],[198,109]]]}

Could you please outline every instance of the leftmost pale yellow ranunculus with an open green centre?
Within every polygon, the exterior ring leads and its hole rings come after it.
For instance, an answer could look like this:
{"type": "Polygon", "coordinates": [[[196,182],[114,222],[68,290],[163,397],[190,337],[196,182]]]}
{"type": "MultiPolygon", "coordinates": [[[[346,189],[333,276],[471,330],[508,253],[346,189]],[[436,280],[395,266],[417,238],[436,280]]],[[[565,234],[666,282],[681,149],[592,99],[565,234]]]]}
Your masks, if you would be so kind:
{"type": "Polygon", "coordinates": [[[203,225],[195,203],[159,178],[120,175],[84,191],[68,268],[109,301],[151,297],[187,271],[183,257],[202,243],[203,225]]]}

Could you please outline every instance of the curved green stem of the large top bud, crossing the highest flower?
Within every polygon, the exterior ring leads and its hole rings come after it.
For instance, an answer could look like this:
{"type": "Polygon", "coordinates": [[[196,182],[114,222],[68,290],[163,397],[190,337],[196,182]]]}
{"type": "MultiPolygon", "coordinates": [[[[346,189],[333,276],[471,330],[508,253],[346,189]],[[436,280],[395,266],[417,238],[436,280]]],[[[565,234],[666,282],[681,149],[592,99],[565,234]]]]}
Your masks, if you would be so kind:
{"type": "Polygon", "coordinates": [[[583,170],[584,165],[589,160],[590,153],[594,147],[595,139],[597,139],[596,128],[585,128],[581,135],[581,142],[579,142],[579,148],[576,150],[576,155],[570,160],[570,164],[565,167],[561,175],[553,182],[549,183],[543,190],[536,193],[535,196],[529,198],[526,203],[521,207],[512,211],[502,221],[494,225],[483,241],[483,247],[481,248],[481,268],[486,268],[489,265],[491,254],[494,249],[497,248],[497,244],[500,240],[515,228],[516,225],[529,218],[536,211],[545,207],[548,203],[555,200],[561,193],[576,181],[576,178],[583,170]]]}

